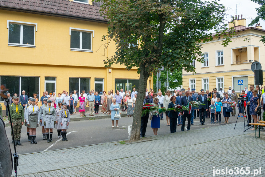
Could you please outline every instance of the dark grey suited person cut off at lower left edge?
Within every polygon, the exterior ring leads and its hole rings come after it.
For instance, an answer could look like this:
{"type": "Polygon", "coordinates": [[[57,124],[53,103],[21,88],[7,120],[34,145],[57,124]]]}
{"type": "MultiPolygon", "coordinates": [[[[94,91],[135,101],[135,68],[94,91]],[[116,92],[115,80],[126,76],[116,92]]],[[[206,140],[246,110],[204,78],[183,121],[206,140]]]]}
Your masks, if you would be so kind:
{"type": "Polygon", "coordinates": [[[12,175],[13,159],[9,141],[6,136],[5,123],[0,115],[0,176],[12,175]]]}

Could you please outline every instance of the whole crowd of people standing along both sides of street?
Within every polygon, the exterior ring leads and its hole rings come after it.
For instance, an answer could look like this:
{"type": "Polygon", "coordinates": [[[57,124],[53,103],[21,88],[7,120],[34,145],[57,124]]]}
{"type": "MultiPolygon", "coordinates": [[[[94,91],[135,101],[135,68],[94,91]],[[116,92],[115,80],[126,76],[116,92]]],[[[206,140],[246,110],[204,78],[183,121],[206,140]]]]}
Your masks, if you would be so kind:
{"type": "MultiPolygon", "coordinates": [[[[20,97],[17,97],[17,94],[11,97],[10,93],[7,93],[14,129],[14,143],[21,145],[20,134],[24,119],[25,126],[27,127],[28,141],[31,144],[37,144],[36,128],[39,124],[42,127],[43,139],[47,140],[47,143],[53,142],[54,128],[57,129],[58,138],[63,138],[63,141],[67,141],[66,134],[70,115],[76,113],[78,103],[78,112],[80,112],[81,117],[86,116],[87,106],[89,106],[89,116],[93,116],[94,113],[99,114],[99,106],[101,105],[101,113],[111,115],[112,128],[114,128],[114,122],[116,122],[116,127],[119,127],[118,123],[121,111],[127,111],[128,117],[133,115],[137,98],[135,88],[133,88],[132,92],[123,92],[123,89],[120,89],[120,91],[116,90],[115,93],[111,90],[108,91],[108,94],[106,94],[106,91],[103,91],[101,94],[99,96],[99,93],[94,92],[94,90],[88,93],[82,90],[80,94],[73,91],[73,93],[68,95],[68,92],[64,90],[56,96],[55,92],[48,94],[48,91],[45,91],[40,100],[38,100],[37,94],[33,94],[33,97],[28,98],[28,95],[25,95],[25,91],[22,91],[20,97]]],[[[185,91],[183,88],[181,91],[175,90],[173,94],[170,91],[166,91],[165,95],[162,95],[160,90],[158,93],[154,93],[153,89],[150,89],[150,91],[146,89],[144,103],[154,103],[158,107],[168,109],[176,105],[188,106],[191,101],[199,101],[202,104],[198,108],[192,107],[191,111],[183,111],[181,113],[171,110],[165,113],[153,111],[150,115],[143,115],[140,135],[141,137],[146,136],[148,119],[151,119],[151,128],[154,135],[157,135],[158,128],[160,128],[160,120],[164,120],[164,114],[166,115],[167,126],[170,127],[171,133],[176,132],[177,126],[181,126],[181,131],[185,131],[186,120],[187,130],[190,130],[190,127],[194,125],[194,119],[197,119],[196,117],[199,117],[201,125],[205,125],[205,118],[211,118],[211,123],[221,123],[223,113],[224,123],[229,123],[229,117],[236,116],[236,106],[239,109],[239,117],[247,116],[248,123],[251,123],[252,116],[253,122],[256,123],[260,119],[260,115],[257,113],[259,107],[259,96],[257,94],[262,94],[262,109],[265,109],[265,86],[261,90],[258,85],[250,85],[249,91],[245,87],[241,91],[241,97],[248,98],[248,101],[238,100],[238,95],[235,94],[235,90],[231,87],[229,87],[226,93],[224,93],[222,88],[218,92],[216,88],[213,88],[211,92],[201,89],[197,93],[195,89],[188,88],[185,91]]],[[[5,102],[6,106],[7,103],[5,102]]],[[[2,107],[0,107],[0,114],[2,115],[2,107]]],[[[6,111],[6,116],[10,120],[8,111],[6,111]]],[[[255,130],[255,128],[251,130],[255,130]]]]}

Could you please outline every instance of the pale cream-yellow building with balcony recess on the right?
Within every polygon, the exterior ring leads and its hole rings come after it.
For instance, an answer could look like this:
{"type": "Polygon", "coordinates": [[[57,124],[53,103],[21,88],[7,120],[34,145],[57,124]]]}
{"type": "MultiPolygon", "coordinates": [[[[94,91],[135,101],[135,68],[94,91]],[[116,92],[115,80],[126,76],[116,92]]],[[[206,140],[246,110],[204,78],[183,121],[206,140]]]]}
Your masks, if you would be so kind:
{"type": "Polygon", "coordinates": [[[246,27],[246,19],[242,16],[234,23],[229,22],[231,27],[235,28],[238,35],[232,38],[228,46],[221,45],[224,40],[222,36],[201,44],[204,63],[193,61],[196,74],[183,70],[183,88],[212,91],[213,88],[219,90],[222,87],[224,90],[226,87],[227,91],[232,86],[238,93],[254,84],[252,62],[258,61],[262,69],[265,68],[265,47],[260,41],[265,30],[261,26],[246,27]],[[239,85],[240,80],[243,85],[239,85]]]}

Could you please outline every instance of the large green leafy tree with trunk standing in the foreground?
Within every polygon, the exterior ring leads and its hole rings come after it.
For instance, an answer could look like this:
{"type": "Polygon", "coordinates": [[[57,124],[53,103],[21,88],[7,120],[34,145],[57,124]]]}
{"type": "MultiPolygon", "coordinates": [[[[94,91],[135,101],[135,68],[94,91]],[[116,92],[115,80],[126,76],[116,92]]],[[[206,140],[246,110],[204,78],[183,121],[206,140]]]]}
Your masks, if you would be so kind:
{"type": "MultiPolygon", "coordinates": [[[[140,138],[142,103],[147,79],[157,68],[194,72],[193,59],[202,61],[201,42],[212,40],[210,30],[224,30],[225,8],[218,0],[101,0],[100,13],[107,18],[108,44],[116,44],[115,55],[106,58],[114,63],[138,68],[139,89],[134,108],[131,141],[140,138]]],[[[228,33],[225,31],[224,33],[228,33]]],[[[223,44],[230,41],[226,36],[223,44]]],[[[104,45],[107,47],[107,45],[104,45]]]]}

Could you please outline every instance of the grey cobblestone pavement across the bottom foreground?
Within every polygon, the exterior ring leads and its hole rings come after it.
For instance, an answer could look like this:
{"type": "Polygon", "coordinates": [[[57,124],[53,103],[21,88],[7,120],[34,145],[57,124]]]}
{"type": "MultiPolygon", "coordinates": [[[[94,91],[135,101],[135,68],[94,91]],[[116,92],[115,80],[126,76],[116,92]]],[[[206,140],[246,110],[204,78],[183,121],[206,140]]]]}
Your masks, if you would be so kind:
{"type": "MultiPolygon", "coordinates": [[[[19,156],[18,176],[213,176],[215,169],[261,167],[265,133],[243,123],[152,136],[152,141],[103,143],[19,156]],[[254,151],[253,151],[254,150],[254,151]]],[[[13,173],[14,176],[14,173],[13,173]]],[[[215,175],[253,176],[253,175],[215,175]]]]}

